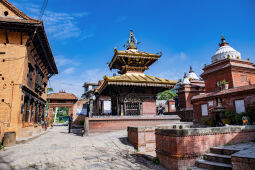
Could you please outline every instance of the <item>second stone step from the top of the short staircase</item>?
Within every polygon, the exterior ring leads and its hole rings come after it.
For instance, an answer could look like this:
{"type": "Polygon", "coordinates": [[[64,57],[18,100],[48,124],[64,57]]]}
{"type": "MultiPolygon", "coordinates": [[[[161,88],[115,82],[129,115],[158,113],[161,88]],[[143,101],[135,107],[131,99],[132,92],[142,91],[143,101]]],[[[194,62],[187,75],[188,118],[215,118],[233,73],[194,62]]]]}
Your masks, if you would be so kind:
{"type": "Polygon", "coordinates": [[[203,156],[204,160],[212,161],[212,162],[219,162],[225,164],[231,164],[231,156],[229,155],[221,155],[215,153],[207,153],[203,156]]]}

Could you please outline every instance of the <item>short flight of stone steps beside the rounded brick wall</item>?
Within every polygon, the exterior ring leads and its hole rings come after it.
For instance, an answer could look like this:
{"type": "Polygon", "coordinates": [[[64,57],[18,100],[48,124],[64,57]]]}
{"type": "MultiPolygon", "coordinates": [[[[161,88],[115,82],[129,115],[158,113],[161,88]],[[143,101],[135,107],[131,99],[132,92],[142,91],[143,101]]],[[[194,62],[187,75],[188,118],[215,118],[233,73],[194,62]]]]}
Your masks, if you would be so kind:
{"type": "Polygon", "coordinates": [[[224,147],[212,147],[210,153],[203,156],[203,159],[196,161],[196,167],[191,169],[210,169],[210,170],[230,170],[231,165],[231,155],[238,152],[237,149],[229,149],[224,147]]]}

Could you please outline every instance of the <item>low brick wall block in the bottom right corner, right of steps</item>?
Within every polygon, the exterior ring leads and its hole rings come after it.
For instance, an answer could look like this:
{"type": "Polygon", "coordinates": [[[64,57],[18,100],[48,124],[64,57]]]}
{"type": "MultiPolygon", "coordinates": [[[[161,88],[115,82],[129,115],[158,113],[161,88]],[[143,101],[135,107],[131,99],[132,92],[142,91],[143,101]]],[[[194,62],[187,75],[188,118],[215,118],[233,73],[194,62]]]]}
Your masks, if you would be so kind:
{"type": "Polygon", "coordinates": [[[255,169],[255,148],[242,150],[231,155],[233,170],[254,170],[255,169]]]}

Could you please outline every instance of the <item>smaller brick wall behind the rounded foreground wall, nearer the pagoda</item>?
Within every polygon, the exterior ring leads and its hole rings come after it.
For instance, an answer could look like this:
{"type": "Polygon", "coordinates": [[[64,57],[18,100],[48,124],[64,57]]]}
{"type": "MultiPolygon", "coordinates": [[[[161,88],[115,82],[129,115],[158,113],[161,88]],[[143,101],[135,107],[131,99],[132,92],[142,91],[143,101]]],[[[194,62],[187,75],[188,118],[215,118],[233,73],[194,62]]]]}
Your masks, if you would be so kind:
{"type": "Polygon", "coordinates": [[[128,127],[128,140],[138,149],[139,152],[155,152],[156,139],[155,129],[183,129],[190,128],[192,122],[179,122],[172,124],[156,125],[156,126],[135,126],[128,127]]]}

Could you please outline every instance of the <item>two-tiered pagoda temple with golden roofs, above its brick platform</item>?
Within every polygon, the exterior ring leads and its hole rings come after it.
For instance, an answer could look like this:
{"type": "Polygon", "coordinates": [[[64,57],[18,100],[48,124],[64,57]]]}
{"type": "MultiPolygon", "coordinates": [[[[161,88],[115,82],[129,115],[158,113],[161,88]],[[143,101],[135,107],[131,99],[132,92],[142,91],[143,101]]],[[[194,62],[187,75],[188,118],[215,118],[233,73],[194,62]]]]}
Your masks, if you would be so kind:
{"type": "Polygon", "coordinates": [[[96,88],[96,110],[94,115],[102,114],[102,106],[107,96],[111,99],[111,115],[156,115],[156,95],[176,84],[175,81],[144,74],[156,62],[161,53],[152,54],[138,51],[133,31],[126,50],[114,49],[109,68],[118,69],[120,75],[104,77],[96,88]]]}

